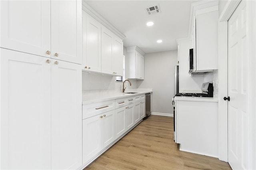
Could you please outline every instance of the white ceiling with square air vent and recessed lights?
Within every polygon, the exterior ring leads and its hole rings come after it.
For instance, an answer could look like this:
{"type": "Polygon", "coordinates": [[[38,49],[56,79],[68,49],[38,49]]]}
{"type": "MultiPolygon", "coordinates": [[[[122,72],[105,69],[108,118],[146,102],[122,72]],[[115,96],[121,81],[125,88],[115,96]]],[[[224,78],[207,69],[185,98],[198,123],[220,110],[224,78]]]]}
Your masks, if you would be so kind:
{"type": "Polygon", "coordinates": [[[192,0],[86,0],[126,38],[125,47],[137,45],[145,53],[176,50],[176,39],[188,37],[192,0]],[[148,16],[145,8],[159,4],[161,13],[148,16]],[[146,26],[152,21],[154,25],[146,26]],[[157,43],[157,40],[163,40],[157,43]]]}

